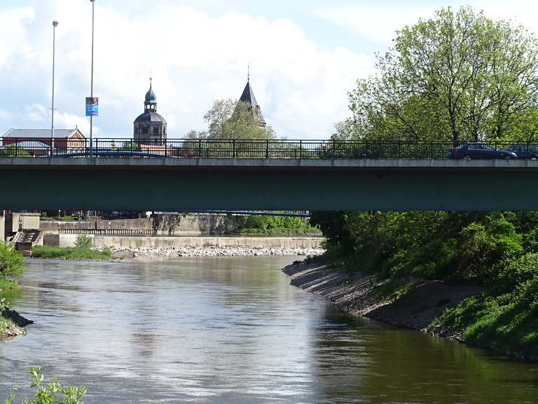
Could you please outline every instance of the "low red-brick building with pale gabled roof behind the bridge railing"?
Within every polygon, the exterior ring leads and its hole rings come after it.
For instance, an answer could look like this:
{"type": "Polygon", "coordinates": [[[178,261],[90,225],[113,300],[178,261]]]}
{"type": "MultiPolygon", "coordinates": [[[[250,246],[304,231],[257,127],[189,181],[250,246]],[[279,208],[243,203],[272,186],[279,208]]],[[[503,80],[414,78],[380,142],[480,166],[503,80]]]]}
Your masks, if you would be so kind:
{"type": "Polygon", "coordinates": [[[55,152],[69,152],[84,149],[86,145],[86,138],[78,127],[55,129],[54,141],[50,129],[10,129],[1,139],[3,147],[17,147],[37,155],[48,152],[51,147],[55,149],[55,152]]]}

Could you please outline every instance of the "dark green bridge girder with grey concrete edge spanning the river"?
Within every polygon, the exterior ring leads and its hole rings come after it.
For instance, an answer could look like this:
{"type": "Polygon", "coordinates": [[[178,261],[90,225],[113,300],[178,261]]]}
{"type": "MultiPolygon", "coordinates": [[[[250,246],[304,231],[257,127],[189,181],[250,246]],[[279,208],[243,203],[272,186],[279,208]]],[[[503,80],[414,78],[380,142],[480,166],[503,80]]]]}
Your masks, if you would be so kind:
{"type": "Polygon", "coordinates": [[[10,210],[538,210],[538,164],[0,161],[10,210]]]}

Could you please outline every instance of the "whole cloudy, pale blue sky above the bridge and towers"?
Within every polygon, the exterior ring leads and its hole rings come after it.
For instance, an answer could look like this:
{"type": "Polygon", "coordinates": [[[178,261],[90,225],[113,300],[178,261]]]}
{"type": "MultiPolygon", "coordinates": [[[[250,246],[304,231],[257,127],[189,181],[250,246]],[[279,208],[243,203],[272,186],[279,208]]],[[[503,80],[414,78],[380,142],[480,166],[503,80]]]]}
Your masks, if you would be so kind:
{"type": "MultiPolygon", "coordinates": [[[[375,72],[394,32],[436,9],[470,4],[538,32],[538,2],[360,0],[96,0],[96,137],[132,137],[153,77],[168,137],[205,130],[214,100],[251,86],[278,137],[326,139],[348,115],[347,92],[375,72]]],[[[53,20],[55,127],[78,126],[90,95],[88,0],[0,1],[0,135],[49,128],[53,20]]]]}

